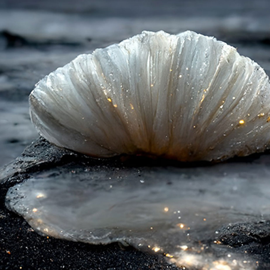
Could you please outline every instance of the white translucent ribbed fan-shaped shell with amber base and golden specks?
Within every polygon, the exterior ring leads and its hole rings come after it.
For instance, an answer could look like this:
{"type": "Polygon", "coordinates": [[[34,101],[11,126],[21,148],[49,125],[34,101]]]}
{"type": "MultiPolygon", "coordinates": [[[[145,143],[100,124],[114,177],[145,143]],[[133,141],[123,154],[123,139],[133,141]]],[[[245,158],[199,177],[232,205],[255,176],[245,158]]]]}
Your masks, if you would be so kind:
{"type": "Polygon", "coordinates": [[[144,31],[51,72],[30,115],[50,142],[95,157],[223,160],[269,148],[270,83],[213,37],[144,31]]]}

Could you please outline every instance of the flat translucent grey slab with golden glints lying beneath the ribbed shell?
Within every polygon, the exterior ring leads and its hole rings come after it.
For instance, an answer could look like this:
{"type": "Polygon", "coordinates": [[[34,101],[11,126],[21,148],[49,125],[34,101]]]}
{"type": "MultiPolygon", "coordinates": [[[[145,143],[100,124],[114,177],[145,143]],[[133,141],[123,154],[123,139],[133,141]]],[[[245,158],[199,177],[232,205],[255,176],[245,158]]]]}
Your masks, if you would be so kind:
{"type": "Polygon", "coordinates": [[[210,167],[60,168],[9,189],[6,205],[46,235],[121,242],[195,269],[255,269],[220,229],[269,218],[267,156],[210,167]]]}

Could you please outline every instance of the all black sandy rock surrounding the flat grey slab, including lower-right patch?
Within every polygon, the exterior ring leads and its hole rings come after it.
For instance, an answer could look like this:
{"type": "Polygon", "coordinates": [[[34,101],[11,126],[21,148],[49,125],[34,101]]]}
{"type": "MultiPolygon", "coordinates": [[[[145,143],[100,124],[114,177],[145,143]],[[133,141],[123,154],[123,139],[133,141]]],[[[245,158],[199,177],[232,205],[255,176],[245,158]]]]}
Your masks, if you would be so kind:
{"type": "MultiPolygon", "coordinates": [[[[269,155],[255,154],[246,158],[235,158],[227,164],[230,166],[239,162],[246,162],[247,166],[261,162],[267,165],[269,155]]],[[[46,174],[51,168],[58,168],[61,173],[71,171],[74,166],[78,168],[78,171],[80,168],[84,171],[85,168],[96,165],[127,168],[165,166],[166,168],[166,164],[170,165],[169,168],[172,170],[172,163],[163,160],[141,160],[128,157],[109,160],[93,159],[58,148],[45,139],[37,139],[25,149],[22,155],[0,171],[0,178],[3,180],[0,189],[0,252],[4,269],[19,267],[22,269],[179,269],[168,264],[165,257],[161,255],[145,254],[133,248],[122,250],[117,244],[93,246],[41,236],[33,231],[22,217],[4,207],[4,197],[9,187],[35,175],[36,172],[46,174]]],[[[175,163],[174,165],[176,169],[181,169],[183,166],[184,170],[186,167],[185,164],[175,163]]],[[[205,165],[207,166],[207,164],[190,166],[205,165]]],[[[249,265],[250,261],[256,262],[251,264],[252,269],[268,269],[270,267],[269,222],[264,220],[263,216],[254,215],[250,217],[250,222],[221,227],[219,234],[205,238],[203,245],[210,247],[212,243],[218,242],[218,245],[214,247],[217,254],[223,254],[224,248],[229,248],[231,254],[238,255],[244,264],[249,265]]]]}

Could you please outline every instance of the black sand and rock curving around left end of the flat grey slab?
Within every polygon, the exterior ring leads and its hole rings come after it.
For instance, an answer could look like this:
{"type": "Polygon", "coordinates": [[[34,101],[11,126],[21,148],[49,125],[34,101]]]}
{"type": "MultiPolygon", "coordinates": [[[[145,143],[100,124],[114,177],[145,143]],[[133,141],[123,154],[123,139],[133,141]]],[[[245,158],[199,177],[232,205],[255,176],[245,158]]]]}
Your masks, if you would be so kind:
{"type": "MultiPolygon", "coordinates": [[[[14,162],[1,169],[0,187],[0,266],[1,269],[178,269],[163,257],[145,254],[133,248],[89,245],[34,232],[27,222],[4,206],[9,187],[27,179],[32,173],[65,164],[103,163],[84,155],[60,149],[46,140],[34,141],[14,162]],[[22,268],[20,268],[22,267],[22,268]]],[[[111,160],[120,165],[119,160],[111,160]]],[[[109,163],[110,163],[109,162],[109,163]]]]}

